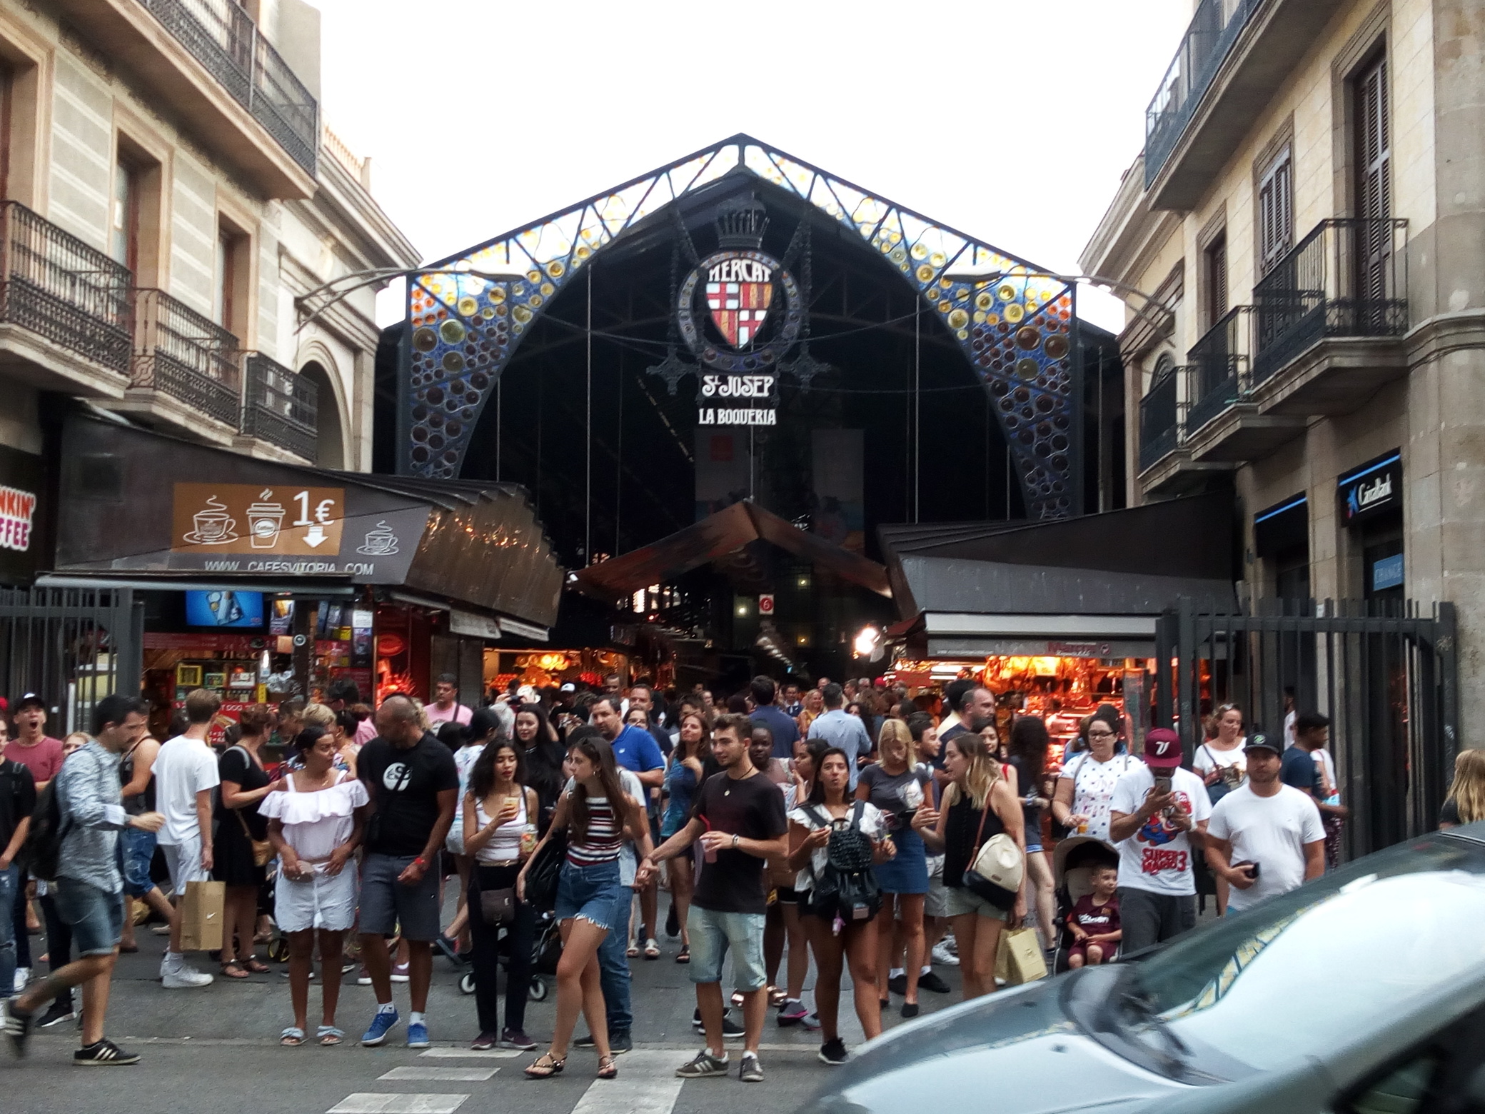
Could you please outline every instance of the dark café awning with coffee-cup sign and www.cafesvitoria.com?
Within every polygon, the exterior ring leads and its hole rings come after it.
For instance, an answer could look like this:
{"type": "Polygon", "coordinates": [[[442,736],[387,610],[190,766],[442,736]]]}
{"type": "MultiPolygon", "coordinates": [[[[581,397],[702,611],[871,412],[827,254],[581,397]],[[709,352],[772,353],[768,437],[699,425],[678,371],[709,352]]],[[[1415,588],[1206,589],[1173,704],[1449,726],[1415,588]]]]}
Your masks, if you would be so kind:
{"type": "Polygon", "coordinates": [[[564,570],[514,484],[258,460],[80,413],[62,460],[50,579],[371,584],[523,627],[557,618],[564,570]]]}

